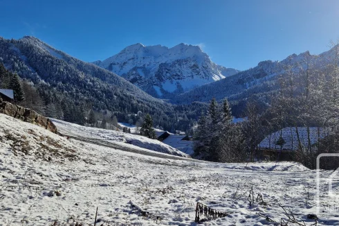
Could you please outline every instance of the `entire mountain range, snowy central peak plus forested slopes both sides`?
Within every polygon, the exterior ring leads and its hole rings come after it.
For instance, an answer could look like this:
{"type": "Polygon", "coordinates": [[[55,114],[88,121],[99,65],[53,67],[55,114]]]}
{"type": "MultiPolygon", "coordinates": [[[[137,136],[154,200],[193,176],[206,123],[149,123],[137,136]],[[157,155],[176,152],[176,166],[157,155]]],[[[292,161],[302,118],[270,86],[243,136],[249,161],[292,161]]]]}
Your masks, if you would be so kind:
{"type": "Polygon", "coordinates": [[[267,60],[237,71],[214,64],[199,46],[187,44],[172,48],[134,44],[92,64],[35,37],[0,37],[0,62],[32,81],[46,104],[61,106],[63,114],[69,106],[81,112],[92,105],[114,112],[120,121],[133,118],[136,123],[135,115],[141,111],[152,114],[155,125],[165,130],[187,130],[213,97],[218,101],[227,97],[237,117],[250,97],[269,104],[268,94],[279,89],[280,75],[306,67],[321,69],[338,57],[336,48],[320,55],[293,54],[280,62],[267,60]]]}

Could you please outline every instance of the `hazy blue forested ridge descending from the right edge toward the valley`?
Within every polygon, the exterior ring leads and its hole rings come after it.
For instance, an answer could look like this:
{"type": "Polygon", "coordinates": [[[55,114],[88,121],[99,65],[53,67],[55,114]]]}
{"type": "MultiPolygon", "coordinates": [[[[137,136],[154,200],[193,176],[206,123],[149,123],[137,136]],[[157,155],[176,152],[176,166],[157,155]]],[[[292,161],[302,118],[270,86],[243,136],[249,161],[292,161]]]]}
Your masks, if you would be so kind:
{"type": "Polygon", "coordinates": [[[208,102],[213,97],[219,101],[226,97],[230,101],[239,101],[253,95],[265,96],[279,88],[278,78],[281,75],[286,75],[288,72],[301,73],[307,68],[322,69],[326,67],[327,64],[335,60],[336,49],[338,46],[320,55],[311,55],[309,51],[299,55],[293,54],[281,62],[271,60],[259,62],[257,67],[180,94],[176,96],[173,103],[208,102]]]}

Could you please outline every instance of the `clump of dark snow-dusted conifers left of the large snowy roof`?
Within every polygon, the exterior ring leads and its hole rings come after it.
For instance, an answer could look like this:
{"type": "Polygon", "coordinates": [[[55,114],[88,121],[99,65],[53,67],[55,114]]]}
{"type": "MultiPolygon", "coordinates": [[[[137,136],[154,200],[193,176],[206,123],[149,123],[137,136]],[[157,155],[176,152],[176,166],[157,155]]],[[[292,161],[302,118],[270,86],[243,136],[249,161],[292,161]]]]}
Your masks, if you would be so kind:
{"type": "Polygon", "coordinates": [[[232,124],[226,99],[219,107],[213,98],[207,116],[201,115],[194,132],[194,155],[213,162],[244,160],[244,137],[240,126],[232,124]]]}

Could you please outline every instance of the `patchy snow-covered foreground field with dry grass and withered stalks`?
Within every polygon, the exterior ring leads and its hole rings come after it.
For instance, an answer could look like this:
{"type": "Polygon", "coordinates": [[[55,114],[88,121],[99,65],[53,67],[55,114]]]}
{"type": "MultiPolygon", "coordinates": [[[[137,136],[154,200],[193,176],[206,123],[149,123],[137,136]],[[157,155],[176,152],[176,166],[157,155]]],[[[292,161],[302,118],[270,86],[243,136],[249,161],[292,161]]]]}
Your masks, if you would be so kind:
{"type": "MultiPolygon", "coordinates": [[[[293,162],[214,164],[150,157],[68,140],[3,114],[0,141],[3,226],[94,225],[97,207],[96,225],[195,225],[198,201],[228,213],[203,225],[277,225],[266,216],[277,222],[286,218],[278,204],[311,225],[306,216],[316,211],[316,172],[293,162]],[[251,188],[264,202],[255,200],[250,207],[251,188]],[[148,216],[140,216],[136,206],[148,216]]],[[[336,205],[329,196],[321,198],[336,205]]],[[[338,212],[323,210],[318,217],[318,225],[339,225],[338,212]]]]}

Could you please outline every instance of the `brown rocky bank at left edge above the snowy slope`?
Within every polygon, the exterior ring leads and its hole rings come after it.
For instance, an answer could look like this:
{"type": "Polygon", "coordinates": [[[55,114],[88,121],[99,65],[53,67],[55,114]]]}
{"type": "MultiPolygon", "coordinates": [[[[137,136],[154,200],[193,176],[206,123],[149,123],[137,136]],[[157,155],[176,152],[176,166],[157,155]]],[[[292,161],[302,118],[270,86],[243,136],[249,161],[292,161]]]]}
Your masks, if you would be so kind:
{"type": "Polygon", "coordinates": [[[13,105],[12,103],[5,101],[0,101],[0,113],[7,114],[14,117],[15,119],[20,119],[21,121],[39,125],[46,130],[50,130],[51,132],[57,134],[57,127],[50,119],[28,108],[21,107],[19,105],[13,105]]]}

